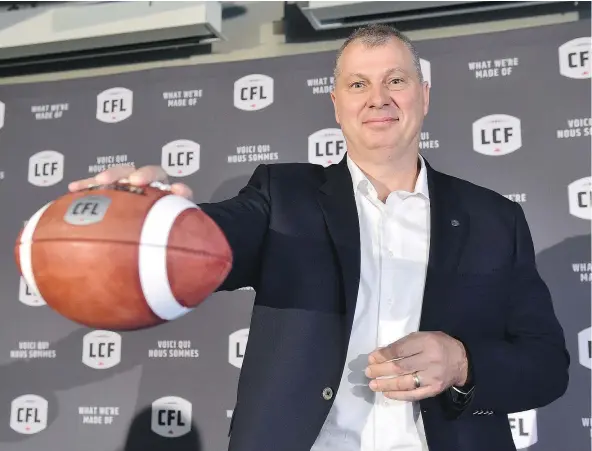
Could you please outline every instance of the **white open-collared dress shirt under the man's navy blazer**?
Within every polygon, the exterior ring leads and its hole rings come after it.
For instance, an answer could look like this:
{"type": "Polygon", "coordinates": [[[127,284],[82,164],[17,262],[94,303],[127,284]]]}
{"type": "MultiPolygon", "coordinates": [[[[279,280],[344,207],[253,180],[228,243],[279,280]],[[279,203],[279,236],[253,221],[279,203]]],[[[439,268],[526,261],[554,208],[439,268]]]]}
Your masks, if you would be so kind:
{"type": "Polygon", "coordinates": [[[425,162],[415,189],[381,202],[346,154],[360,224],[361,273],[339,390],[311,451],[428,451],[418,403],[374,393],[368,354],[418,330],[429,251],[425,162]]]}

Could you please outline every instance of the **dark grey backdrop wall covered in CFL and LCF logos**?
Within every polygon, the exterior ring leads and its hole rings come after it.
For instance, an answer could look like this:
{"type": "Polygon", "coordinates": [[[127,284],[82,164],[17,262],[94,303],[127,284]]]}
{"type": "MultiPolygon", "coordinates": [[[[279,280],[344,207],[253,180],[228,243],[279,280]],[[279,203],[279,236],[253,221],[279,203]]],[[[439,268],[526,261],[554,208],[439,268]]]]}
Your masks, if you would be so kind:
{"type": "MultiPolygon", "coordinates": [[[[417,45],[432,85],[422,154],[522,204],[572,355],[562,399],[509,416],[516,446],[587,449],[590,21],[417,45]]],[[[0,87],[3,451],[226,449],[252,290],[215,294],[150,330],[91,330],[58,316],[19,279],[14,242],[69,181],[115,164],[162,164],[199,202],[232,196],[259,163],[338,162],[346,146],[328,94],[333,58],[0,87]]]]}

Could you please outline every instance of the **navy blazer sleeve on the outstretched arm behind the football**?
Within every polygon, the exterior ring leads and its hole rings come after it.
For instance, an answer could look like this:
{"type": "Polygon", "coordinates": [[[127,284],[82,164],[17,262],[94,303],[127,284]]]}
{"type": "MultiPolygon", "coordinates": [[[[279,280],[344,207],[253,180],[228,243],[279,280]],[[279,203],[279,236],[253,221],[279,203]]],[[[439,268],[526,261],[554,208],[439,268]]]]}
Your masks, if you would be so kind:
{"type": "Polygon", "coordinates": [[[257,289],[261,247],[269,226],[269,184],[269,167],[259,165],[235,197],[198,204],[220,227],[232,249],[232,268],[216,291],[257,289]]]}

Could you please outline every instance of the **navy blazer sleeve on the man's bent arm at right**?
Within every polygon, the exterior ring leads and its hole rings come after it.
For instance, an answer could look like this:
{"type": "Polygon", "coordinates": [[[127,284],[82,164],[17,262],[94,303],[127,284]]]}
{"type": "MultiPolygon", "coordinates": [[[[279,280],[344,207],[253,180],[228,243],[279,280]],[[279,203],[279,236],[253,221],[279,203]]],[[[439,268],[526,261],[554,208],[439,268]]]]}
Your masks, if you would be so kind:
{"type": "Polygon", "coordinates": [[[540,408],[568,385],[570,356],[551,294],[535,262],[530,229],[515,203],[514,267],[506,339],[462,340],[470,356],[473,391],[467,403],[448,403],[456,416],[473,411],[513,413],[540,408]],[[459,408],[460,406],[460,408],[459,408]]]}

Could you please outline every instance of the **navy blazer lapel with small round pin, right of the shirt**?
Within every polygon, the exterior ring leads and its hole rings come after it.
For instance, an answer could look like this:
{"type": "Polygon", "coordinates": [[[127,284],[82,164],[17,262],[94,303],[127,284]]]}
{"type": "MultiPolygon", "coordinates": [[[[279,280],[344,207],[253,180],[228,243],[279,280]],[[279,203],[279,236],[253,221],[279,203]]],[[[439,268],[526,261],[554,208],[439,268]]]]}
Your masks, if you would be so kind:
{"type": "Polygon", "coordinates": [[[450,314],[441,285],[456,273],[468,236],[469,216],[449,186],[448,178],[426,161],[430,192],[430,251],[419,329],[439,330],[450,314]]]}

